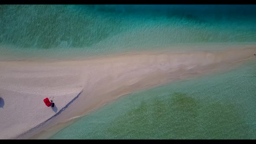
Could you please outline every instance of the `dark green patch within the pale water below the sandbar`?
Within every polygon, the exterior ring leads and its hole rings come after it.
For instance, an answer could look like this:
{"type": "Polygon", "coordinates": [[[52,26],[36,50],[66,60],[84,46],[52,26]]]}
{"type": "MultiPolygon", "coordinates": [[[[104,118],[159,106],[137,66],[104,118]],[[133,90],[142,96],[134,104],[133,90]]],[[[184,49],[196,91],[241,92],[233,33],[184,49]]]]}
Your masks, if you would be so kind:
{"type": "MultiPolygon", "coordinates": [[[[185,93],[154,97],[106,129],[116,139],[243,139],[249,138],[249,125],[234,104],[213,101],[203,104],[185,93]],[[234,124],[236,127],[234,127],[234,124]]],[[[95,135],[97,138],[98,136],[95,135]]]]}

